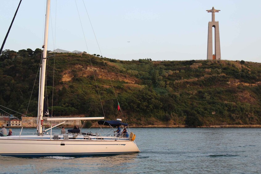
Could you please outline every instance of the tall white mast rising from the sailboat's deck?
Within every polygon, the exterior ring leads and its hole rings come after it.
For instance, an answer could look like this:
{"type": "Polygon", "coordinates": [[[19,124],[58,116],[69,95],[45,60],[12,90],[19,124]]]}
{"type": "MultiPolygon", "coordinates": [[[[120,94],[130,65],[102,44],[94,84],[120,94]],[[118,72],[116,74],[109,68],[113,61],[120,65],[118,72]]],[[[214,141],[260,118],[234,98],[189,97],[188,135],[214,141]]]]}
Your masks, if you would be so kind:
{"type": "Polygon", "coordinates": [[[43,105],[44,105],[44,86],[45,86],[45,71],[46,71],[46,57],[47,57],[47,44],[48,44],[48,31],[49,31],[49,16],[50,16],[50,2],[46,2],[46,14],[45,14],[45,29],[44,29],[44,42],[43,42],[43,57],[41,65],[41,74],[40,74],[40,94],[39,94],[39,103],[38,103],[38,133],[42,134],[43,130],[43,105]]]}

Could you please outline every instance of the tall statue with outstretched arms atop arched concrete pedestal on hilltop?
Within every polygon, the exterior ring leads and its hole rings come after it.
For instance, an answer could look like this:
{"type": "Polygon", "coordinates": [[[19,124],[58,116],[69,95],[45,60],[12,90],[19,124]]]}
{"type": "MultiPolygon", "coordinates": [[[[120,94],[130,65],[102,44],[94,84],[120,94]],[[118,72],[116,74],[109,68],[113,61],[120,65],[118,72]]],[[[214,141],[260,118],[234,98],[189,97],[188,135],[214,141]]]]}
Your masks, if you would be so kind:
{"type": "Polygon", "coordinates": [[[219,25],[218,21],[215,21],[215,13],[218,13],[220,10],[214,9],[212,7],[211,10],[206,10],[208,13],[212,13],[212,20],[208,22],[208,37],[207,37],[207,59],[214,59],[220,60],[221,53],[220,53],[220,38],[219,38],[219,25]],[[213,33],[212,27],[214,27],[214,44],[215,44],[215,52],[213,54],[213,33]]]}

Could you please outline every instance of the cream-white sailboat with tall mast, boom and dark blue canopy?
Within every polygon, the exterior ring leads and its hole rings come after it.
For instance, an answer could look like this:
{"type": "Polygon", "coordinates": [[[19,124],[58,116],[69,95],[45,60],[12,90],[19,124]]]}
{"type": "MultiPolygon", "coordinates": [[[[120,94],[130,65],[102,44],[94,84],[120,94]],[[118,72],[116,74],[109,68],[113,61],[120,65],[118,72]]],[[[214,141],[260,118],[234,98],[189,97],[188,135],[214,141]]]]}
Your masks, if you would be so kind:
{"type": "Polygon", "coordinates": [[[128,126],[121,119],[104,121],[104,117],[84,118],[47,118],[44,116],[44,87],[46,74],[47,42],[49,28],[50,0],[47,0],[43,56],[39,75],[39,99],[38,99],[38,125],[35,135],[1,136],[0,155],[14,157],[47,157],[69,156],[84,157],[97,155],[114,155],[140,152],[135,143],[135,135],[122,136],[120,132],[114,133],[115,127],[128,126]],[[64,134],[52,133],[52,128],[57,127],[69,120],[100,120],[99,125],[109,126],[112,133],[81,133],[68,132],[64,134]],[[44,130],[43,121],[63,121],[55,126],[44,130]],[[48,131],[51,131],[49,133],[48,131]]]}

